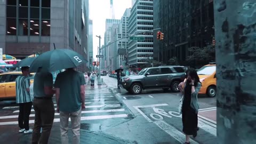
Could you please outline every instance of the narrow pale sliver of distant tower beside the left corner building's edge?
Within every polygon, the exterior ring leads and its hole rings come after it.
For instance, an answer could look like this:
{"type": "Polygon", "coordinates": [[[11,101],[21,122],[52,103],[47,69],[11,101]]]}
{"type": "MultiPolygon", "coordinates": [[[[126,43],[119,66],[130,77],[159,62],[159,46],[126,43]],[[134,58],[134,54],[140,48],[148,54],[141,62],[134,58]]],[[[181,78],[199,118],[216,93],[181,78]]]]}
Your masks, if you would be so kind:
{"type": "Polygon", "coordinates": [[[89,19],[89,41],[88,41],[88,60],[89,60],[89,69],[92,71],[92,60],[93,60],[93,21],[89,19]]]}

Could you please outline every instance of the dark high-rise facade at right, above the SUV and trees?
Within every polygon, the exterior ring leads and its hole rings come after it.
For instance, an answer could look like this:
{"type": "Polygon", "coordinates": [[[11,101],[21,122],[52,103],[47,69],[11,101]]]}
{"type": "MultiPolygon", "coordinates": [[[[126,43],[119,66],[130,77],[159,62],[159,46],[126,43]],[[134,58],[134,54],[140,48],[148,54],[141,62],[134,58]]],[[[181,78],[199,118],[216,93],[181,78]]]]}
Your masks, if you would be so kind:
{"type": "Polygon", "coordinates": [[[163,41],[157,41],[154,33],[154,59],[167,64],[177,57],[184,65],[191,54],[189,47],[212,43],[213,0],[154,1],[154,28],[161,28],[164,33],[163,41]]]}

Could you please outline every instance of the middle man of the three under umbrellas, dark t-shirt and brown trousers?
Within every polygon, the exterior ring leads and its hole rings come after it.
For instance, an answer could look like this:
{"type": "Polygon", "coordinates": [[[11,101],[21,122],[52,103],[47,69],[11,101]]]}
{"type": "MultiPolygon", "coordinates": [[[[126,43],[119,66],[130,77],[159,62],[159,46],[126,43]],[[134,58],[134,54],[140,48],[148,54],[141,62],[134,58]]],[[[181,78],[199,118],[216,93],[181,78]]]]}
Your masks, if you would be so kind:
{"type": "Polygon", "coordinates": [[[47,143],[51,134],[54,105],[52,101],[55,90],[53,89],[53,76],[51,73],[38,73],[34,77],[35,124],[32,143],[47,143]],[[42,127],[42,133],[40,133],[42,127]]]}

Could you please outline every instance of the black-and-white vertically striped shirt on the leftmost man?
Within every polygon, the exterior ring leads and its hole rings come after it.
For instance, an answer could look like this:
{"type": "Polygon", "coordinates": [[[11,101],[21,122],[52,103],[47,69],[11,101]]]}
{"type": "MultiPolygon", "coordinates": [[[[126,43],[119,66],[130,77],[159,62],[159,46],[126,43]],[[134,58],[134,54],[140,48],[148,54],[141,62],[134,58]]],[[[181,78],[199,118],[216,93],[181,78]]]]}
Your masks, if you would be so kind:
{"type": "Polygon", "coordinates": [[[16,78],[16,102],[25,103],[31,102],[30,94],[26,89],[29,89],[30,80],[27,76],[18,76],[16,78]]]}

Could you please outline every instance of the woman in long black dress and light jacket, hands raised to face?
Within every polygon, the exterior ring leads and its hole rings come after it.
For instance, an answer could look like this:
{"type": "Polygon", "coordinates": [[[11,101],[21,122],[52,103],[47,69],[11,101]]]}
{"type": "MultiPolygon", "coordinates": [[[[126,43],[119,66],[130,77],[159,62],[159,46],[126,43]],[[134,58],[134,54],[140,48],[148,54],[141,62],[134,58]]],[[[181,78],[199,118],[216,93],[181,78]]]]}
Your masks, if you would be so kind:
{"type": "Polygon", "coordinates": [[[189,136],[193,135],[195,138],[197,135],[197,113],[198,113],[198,101],[197,94],[201,89],[201,83],[199,77],[196,73],[196,70],[189,68],[186,72],[185,82],[179,85],[181,92],[183,92],[182,97],[182,124],[183,132],[186,134],[186,142],[189,142],[189,136]],[[184,89],[182,89],[184,85],[184,89]]]}

